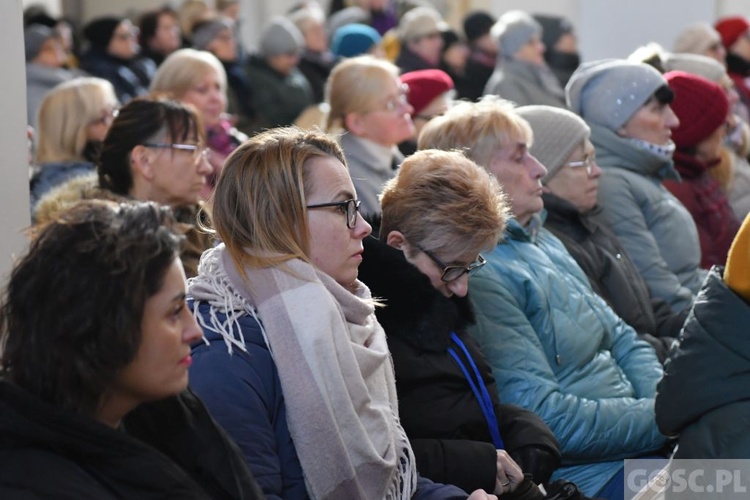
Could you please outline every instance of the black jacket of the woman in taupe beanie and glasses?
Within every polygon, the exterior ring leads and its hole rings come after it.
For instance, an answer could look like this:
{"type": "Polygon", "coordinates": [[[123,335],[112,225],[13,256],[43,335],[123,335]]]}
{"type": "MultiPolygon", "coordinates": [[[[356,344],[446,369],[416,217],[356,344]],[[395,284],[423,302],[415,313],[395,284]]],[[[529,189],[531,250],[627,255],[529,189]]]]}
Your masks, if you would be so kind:
{"type": "Polygon", "coordinates": [[[669,304],[652,298],[645,280],[617,236],[595,208],[582,214],[568,201],[544,193],[544,227],[560,241],[591,282],[594,291],[656,349],[661,361],[680,333],[687,310],[675,313],[669,304]],[[658,338],[655,338],[658,337],[658,338]]]}

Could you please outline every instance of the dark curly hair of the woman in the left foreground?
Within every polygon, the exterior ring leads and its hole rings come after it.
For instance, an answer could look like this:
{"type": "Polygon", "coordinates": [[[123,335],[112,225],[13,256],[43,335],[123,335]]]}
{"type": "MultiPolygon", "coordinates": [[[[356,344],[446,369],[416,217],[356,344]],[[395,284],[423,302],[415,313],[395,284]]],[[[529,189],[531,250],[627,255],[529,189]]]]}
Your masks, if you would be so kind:
{"type": "Polygon", "coordinates": [[[0,374],[93,416],[141,342],[146,300],[178,256],[169,208],[79,203],[41,229],[0,305],[0,374]]]}

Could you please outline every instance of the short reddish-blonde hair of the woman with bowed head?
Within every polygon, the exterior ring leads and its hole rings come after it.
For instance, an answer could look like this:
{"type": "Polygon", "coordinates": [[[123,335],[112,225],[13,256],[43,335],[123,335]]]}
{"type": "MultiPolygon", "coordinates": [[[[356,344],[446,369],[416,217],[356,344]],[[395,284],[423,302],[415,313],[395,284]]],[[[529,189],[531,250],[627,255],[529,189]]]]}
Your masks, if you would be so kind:
{"type": "Polygon", "coordinates": [[[407,157],[380,196],[380,238],[400,231],[427,250],[455,254],[495,247],[508,203],[497,180],[458,151],[427,149],[407,157]]]}

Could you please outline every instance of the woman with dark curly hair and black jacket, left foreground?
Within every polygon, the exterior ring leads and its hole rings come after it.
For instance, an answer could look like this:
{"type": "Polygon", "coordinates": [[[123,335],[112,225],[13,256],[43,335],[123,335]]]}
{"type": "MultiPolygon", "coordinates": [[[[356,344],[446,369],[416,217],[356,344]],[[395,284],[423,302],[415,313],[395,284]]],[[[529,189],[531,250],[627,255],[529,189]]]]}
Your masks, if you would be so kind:
{"type": "Polygon", "coordinates": [[[188,390],[201,331],[155,204],[82,203],[44,227],[0,306],[0,496],[260,499],[188,390]]]}

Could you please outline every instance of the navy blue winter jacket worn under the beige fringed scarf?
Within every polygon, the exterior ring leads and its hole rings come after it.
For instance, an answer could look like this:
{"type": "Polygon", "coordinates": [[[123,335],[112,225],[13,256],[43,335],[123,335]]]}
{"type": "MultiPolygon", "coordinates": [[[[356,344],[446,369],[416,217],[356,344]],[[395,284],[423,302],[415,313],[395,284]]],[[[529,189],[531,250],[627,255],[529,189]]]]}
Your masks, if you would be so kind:
{"type": "MultiPolygon", "coordinates": [[[[189,302],[193,309],[194,303],[189,302]]],[[[201,303],[204,324],[211,314],[220,323],[226,316],[201,303]]],[[[276,364],[260,327],[247,314],[238,319],[247,351],[236,346],[229,354],[223,337],[204,328],[205,340],[193,346],[190,386],[213,418],[245,455],[255,480],[269,499],[308,499],[302,467],[286,420],[286,406],[276,364]]],[[[450,485],[420,477],[414,500],[457,500],[467,494],[450,485]]]]}

